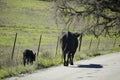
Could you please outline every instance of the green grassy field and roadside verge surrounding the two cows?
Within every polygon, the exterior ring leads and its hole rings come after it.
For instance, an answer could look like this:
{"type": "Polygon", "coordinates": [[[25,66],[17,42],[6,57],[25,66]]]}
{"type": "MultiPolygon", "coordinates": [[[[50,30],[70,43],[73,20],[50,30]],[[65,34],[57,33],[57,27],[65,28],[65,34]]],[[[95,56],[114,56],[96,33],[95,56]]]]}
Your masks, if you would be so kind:
{"type": "MultiPolygon", "coordinates": [[[[63,63],[60,45],[56,54],[58,36],[63,27],[57,27],[55,23],[53,4],[41,0],[0,0],[0,79],[63,63]],[[16,33],[18,35],[11,59],[16,33]],[[32,49],[37,53],[40,35],[40,51],[34,65],[23,66],[22,52],[32,49]]],[[[119,45],[120,38],[95,38],[86,34],[81,51],[76,52],[75,61],[118,52],[119,45]]]]}

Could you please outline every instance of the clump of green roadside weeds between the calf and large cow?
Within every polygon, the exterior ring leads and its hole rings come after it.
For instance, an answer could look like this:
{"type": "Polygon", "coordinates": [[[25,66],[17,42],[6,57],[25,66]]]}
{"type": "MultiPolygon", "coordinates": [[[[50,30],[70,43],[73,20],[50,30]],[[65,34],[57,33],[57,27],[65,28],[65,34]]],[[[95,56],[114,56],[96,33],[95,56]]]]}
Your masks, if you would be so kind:
{"type": "Polygon", "coordinates": [[[61,63],[61,57],[54,57],[53,54],[49,52],[43,52],[40,57],[36,61],[37,67],[40,68],[48,68],[51,66],[57,66],[61,63]]]}

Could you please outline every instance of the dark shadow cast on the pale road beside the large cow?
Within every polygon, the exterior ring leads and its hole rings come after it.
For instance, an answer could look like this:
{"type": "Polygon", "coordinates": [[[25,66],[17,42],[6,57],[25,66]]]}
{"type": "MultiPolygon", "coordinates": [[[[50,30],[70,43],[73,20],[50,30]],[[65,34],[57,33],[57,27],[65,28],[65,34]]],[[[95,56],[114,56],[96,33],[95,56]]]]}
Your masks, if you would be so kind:
{"type": "Polygon", "coordinates": [[[100,64],[79,64],[77,66],[72,66],[72,68],[103,68],[100,64]]]}

